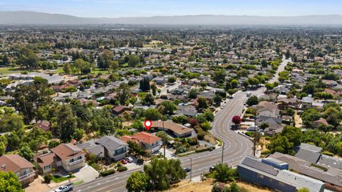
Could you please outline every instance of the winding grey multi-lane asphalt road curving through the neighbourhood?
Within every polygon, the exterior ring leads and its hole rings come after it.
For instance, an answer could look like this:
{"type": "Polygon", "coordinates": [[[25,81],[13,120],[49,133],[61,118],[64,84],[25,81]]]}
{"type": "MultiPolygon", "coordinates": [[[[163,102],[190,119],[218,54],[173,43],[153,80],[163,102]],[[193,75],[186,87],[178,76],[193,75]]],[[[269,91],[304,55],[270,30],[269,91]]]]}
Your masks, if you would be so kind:
{"type": "MultiPolygon", "coordinates": [[[[285,60],[283,58],[283,62],[279,65],[276,75],[269,80],[269,82],[277,80],[279,72],[284,70],[289,62],[290,60],[285,60]]],[[[264,90],[265,88],[261,87],[258,90],[252,91],[252,95],[261,95],[264,90]]],[[[227,101],[226,106],[215,115],[214,122],[212,122],[211,132],[215,137],[222,139],[224,142],[223,160],[230,166],[236,166],[244,159],[244,156],[252,155],[252,142],[230,129],[232,126],[232,117],[234,117],[234,115],[242,114],[244,102],[246,100],[246,92],[237,92],[231,100],[227,101]]],[[[182,157],[180,158],[180,161],[184,168],[190,168],[190,162],[192,161],[192,177],[195,177],[209,171],[209,167],[219,163],[221,159],[222,148],[182,157]]],[[[142,168],[98,178],[89,183],[83,183],[80,186],[76,186],[74,191],[126,191],[126,179],[134,171],[140,170],[142,170],[142,168]]],[[[189,177],[190,173],[187,174],[187,178],[189,177]]]]}

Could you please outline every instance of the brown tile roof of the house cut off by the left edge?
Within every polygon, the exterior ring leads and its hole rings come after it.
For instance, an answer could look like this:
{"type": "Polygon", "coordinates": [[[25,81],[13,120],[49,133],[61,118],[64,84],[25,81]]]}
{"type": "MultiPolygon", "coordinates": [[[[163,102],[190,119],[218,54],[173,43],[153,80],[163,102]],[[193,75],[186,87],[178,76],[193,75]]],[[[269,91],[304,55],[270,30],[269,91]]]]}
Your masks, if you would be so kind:
{"type": "Polygon", "coordinates": [[[33,164],[19,156],[19,154],[8,154],[0,156],[0,166],[0,171],[15,173],[19,169],[33,167],[33,164]]]}

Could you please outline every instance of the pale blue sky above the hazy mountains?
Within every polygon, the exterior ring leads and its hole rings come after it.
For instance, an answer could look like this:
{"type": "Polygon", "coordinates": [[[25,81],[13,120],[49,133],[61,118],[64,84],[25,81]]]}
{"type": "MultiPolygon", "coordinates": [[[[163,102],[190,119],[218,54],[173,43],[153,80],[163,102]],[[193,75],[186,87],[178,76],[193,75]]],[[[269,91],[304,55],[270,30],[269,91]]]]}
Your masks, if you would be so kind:
{"type": "Polygon", "coordinates": [[[341,14],[341,0],[0,0],[0,11],[81,17],[341,14]]]}

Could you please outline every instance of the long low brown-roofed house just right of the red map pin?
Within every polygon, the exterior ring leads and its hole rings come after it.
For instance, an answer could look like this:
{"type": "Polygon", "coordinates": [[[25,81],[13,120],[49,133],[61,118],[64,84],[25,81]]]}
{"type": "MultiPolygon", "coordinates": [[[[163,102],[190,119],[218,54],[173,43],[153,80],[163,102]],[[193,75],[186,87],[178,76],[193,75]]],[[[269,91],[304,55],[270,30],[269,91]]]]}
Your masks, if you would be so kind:
{"type": "Polygon", "coordinates": [[[187,128],[181,124],[177,124],[170,121],[155,121],[152,122],[152,128],[168,132],[175,137],[191,137],[194,129],[187,128]]]}

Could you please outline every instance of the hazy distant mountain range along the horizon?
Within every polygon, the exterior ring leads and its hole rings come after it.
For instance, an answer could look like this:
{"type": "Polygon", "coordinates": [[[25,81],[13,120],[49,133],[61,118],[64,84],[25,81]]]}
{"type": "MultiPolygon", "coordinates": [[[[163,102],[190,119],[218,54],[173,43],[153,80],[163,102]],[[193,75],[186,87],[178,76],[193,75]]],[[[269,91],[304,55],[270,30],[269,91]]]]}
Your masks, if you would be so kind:
{"type": "Polygon", "coordinates": [[[32,11],[0,11],[0,24],[140,24],[140,25],[342,25],[341,15],[317,16],[151,16],[83,18],[32,11]]]}

